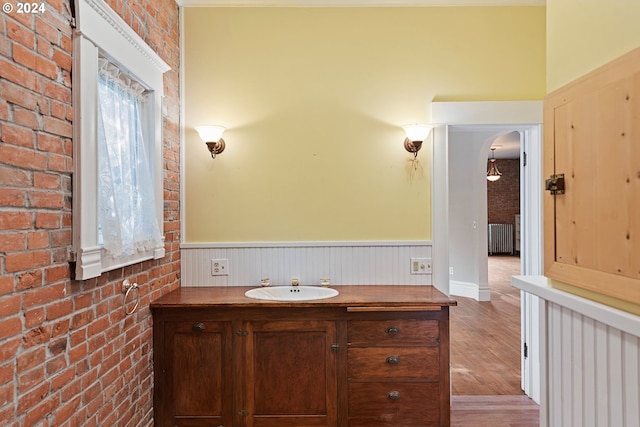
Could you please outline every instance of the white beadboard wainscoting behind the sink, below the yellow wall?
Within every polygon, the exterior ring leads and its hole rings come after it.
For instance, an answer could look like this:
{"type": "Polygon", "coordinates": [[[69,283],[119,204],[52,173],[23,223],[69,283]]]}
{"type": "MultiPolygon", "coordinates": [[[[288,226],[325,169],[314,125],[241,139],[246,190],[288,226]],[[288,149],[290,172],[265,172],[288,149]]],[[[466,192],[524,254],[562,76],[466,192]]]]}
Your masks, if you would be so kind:
{"type": "Polygon", "coordinates": [[[287,285],[431,285],[411,274],[411,258],[431,259],[430,241],[183,243],[182,286],[255,286],[262,278],[287,285]],[[212,276],[211,260],[228,260],[228,276],[212,276]]]}

